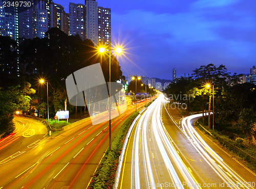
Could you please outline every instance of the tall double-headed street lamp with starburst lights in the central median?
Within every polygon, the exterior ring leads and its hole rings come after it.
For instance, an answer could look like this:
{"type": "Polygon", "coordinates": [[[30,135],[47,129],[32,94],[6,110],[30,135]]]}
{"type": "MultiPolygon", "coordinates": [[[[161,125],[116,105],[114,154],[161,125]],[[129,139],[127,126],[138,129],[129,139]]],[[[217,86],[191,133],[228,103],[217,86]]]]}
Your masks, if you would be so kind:
{"type": "MultiPolygon", "coordinates": [[[[104,53],[105,52],[105,48],[104,47],[100,47],[99,49],[100,53],[104,53]]],[[[122,49],[120,47],[116,47],[115,49],[112,49],[111,46],[109,48],[109,53],[110,53],[110,80],[109,80],[109,149],[111,151],[111,50],[115,50],[116,53],[121,53],[122,49]]]]}

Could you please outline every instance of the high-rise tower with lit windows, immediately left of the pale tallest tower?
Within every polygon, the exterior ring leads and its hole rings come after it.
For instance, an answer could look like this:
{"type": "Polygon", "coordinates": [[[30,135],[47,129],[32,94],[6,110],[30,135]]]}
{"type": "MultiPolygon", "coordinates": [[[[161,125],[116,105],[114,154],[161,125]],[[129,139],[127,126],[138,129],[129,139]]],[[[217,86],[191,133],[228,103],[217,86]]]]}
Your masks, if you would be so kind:
{"type": "Polygon", "coordinates": [[[84,5],[69,3],[69,34],[70,35],[79,35],[82,40],[86,39],[84,34],[85,29],[85,18],[84,18],[84,5]]]}

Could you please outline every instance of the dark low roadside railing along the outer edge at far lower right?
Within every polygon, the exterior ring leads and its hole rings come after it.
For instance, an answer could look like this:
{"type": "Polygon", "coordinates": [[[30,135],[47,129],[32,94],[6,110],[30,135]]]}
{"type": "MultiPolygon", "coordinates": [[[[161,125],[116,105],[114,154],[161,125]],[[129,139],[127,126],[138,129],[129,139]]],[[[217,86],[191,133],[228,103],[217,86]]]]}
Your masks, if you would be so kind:
{"type": "Polygon", "coordinates": [[[226,141],[225,139],[218,136],[218,141],[225,145],[229,150],[236,152],[239,156],[243,157],[245,160],[252,163],[254,166],[256,165],[256,159],[252,157],[250,154],[246,153],[245,151],[241,150],[240,148],[234,146],[230,142],[226,141]]]}

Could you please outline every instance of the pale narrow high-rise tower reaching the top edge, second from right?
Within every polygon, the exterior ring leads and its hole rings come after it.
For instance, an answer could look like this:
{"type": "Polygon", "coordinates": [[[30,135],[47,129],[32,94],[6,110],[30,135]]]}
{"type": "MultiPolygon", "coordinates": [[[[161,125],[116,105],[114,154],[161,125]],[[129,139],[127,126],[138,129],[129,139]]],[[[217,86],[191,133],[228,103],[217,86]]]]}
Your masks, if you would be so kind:
{"type": "Polygon", "coordinates": [[[86,0],[86,39],[98,44],[98,2],[86,0]]]}

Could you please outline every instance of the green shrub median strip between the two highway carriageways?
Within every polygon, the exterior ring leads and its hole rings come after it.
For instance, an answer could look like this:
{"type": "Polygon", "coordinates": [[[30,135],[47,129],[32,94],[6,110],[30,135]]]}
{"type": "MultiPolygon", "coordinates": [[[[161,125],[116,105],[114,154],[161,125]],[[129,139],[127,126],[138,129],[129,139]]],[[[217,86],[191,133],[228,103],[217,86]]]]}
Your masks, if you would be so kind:
{"type": "Polygon", "coordinates": [[[88,188],[113,188],[115,182],[116,170],[118,167],[119,156],[122,151],[126,134],[132,125],[134,119],[138,116],[138,112],[133,113],[120,127],[112,140],[112,150],[106,151],[101,159],[97,170],[95,171],[88,188]]]}

